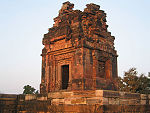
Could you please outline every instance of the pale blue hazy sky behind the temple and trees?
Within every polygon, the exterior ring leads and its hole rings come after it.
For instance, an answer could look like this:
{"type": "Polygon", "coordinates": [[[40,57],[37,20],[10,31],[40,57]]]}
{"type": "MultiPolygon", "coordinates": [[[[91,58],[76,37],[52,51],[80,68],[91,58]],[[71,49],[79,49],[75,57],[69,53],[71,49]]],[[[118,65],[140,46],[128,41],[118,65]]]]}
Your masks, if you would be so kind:
{"type": "MultiPolygon", "coordinates": [[[[65,0],[0,0],[0,93],[22,93],[24,85],[39,89],[42,38],[65,0]]],[[[150,71],[150,0],[70,0],[74,9],[88,3],[107,13],[115,36],[118,73],[136,67],[150,71]]]]}

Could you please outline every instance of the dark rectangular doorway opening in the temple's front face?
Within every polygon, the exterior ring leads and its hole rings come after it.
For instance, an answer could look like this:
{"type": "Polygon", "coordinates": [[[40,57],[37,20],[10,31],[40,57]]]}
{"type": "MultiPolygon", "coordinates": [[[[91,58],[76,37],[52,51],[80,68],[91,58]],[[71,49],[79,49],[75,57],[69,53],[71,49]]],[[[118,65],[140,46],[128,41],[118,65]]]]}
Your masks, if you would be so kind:
{"type": "Polygon", "coordinates": [[[68,82],[69,82],[69,65],[63,65],[61,67],[62,69],[62,89],[68,88],[68,82]]]}

